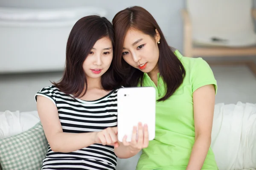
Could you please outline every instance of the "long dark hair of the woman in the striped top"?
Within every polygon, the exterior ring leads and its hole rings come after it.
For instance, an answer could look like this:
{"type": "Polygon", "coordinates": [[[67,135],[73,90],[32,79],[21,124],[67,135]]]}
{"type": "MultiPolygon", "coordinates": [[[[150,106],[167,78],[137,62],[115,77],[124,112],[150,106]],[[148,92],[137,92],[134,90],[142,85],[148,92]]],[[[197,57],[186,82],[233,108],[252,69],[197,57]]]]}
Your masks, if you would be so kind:
{"type": "MultiPolygon", "coordinates": [[[[87,91],[87,79],[82,65],[93,45],[103,37],[111,40],[114,50],[113,26],[105,17],[91,15],[78,20],[67,40],[64,75],[59,82],[52,82],[52,84],[66,94],[72,94],[74,97],[84,96],[87,91]]],[[[101,84],[105,90],[113,90],[119,86],[115,79],[112,62],[108,71],[102,75],[101,84]]]]}

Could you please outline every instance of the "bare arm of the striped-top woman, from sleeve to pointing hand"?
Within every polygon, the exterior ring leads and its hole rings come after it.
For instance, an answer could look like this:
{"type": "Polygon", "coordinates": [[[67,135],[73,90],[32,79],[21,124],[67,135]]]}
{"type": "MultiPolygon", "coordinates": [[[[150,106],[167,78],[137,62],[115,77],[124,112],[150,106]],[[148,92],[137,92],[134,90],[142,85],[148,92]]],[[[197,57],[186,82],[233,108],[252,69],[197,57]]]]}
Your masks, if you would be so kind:
{"type": "Polygon", "coordinates": [[[108,144],[108,136],[106,135],[105,139],[104,133],[113,133],[111,130],[113,128],[108,128],[101,132],[64,133],[58,118],[56,106],[50,99],[44,96],[38,96],[37,110],[44,128],[45,136],[54,152],[73,152],[94,143],[108,144]]]}

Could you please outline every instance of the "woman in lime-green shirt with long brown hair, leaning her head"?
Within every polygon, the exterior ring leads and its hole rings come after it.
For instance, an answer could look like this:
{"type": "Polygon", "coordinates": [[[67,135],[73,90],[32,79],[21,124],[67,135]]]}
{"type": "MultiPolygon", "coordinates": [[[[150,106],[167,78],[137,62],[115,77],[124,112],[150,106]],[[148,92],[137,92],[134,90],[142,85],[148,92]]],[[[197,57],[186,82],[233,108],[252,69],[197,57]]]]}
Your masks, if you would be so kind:
{"type": "Polygon", "coordinates": [[[137,170],[217,170],[210,148],[217,83],[207,62],[170,48],[144,8],[119,11],[112,22],[113,62],[124,85],[153,86],[157,93],[156,136],[137,170]]]}

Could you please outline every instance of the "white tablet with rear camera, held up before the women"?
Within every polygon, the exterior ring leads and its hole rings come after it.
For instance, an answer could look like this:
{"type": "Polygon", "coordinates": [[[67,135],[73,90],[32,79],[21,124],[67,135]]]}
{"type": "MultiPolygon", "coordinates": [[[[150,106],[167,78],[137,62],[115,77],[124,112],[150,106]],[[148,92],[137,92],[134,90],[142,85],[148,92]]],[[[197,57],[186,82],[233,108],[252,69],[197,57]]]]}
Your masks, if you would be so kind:
{"type": "Polygon", "coordinates": [[[154,87],[120,88],[117,91],[118,140],[131,142],[134,126],[148,125],[149,140],[155,137],[156,91],[154,87]]]}

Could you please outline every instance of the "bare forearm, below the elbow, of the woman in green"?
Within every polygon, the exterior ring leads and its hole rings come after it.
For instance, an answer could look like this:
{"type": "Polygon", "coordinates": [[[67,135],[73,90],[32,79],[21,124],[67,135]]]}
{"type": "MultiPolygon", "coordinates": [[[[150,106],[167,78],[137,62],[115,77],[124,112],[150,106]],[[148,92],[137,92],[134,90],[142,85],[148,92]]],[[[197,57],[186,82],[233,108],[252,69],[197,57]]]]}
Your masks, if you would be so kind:
{"type": "Polygon", "coordinates": [[[210,144],[210,136],[199,135],[195,138],[195,144],[192,148],[192,153],[186,170],[201,170],[209,151],[210,144]]]}

